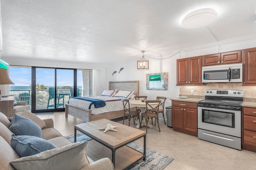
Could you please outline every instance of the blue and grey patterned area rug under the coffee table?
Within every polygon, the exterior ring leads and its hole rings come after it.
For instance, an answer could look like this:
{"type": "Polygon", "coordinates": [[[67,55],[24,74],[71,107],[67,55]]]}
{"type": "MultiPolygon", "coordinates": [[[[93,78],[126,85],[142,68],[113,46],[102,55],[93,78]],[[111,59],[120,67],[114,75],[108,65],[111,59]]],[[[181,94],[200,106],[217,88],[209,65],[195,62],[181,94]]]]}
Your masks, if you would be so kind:
{"type": "MultiPolygon", "coordinates": [[[[71,142],[74,142],[74,135],[66,136],[71,142]]],[[[88,141],[91,138],[84,135],[83,133],[76,134],[76,141],[88,141]]],[[[128,147],[143,152],[143,145],[132,142],[127,145],[128,147]]],[[[132,165],[128,170],[163,170],[168,164],[170,164],[174,159],[166,156],[156,150],[146,147],[147,159],[146,161],[140,160],[132,165]]]]}

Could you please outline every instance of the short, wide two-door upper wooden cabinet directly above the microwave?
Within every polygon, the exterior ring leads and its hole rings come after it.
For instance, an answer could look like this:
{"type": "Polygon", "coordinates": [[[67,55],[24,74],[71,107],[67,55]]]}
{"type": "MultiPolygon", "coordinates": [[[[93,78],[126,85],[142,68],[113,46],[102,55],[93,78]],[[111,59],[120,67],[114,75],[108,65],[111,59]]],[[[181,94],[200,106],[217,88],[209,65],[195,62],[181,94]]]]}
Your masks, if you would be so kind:
{"type": "Polygon", "coordinates": [[[227,53],[204,55],[203,66],[241,63],[242,62],[241,53],[242,53],[241,51],[231,51],[227,53]]]}

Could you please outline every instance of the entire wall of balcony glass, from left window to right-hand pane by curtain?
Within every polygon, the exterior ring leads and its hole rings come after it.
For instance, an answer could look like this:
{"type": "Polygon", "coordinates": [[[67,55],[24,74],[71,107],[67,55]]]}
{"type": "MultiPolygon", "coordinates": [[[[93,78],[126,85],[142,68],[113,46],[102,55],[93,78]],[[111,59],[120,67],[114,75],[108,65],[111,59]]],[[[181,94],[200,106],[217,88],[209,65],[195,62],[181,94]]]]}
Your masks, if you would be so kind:
{"type": "Polygon", "coordinates": [[[64,111],[69,98],[92,96],[92,70],[10,66],[10,78],[10,95],[33,113],[64,111]]]}

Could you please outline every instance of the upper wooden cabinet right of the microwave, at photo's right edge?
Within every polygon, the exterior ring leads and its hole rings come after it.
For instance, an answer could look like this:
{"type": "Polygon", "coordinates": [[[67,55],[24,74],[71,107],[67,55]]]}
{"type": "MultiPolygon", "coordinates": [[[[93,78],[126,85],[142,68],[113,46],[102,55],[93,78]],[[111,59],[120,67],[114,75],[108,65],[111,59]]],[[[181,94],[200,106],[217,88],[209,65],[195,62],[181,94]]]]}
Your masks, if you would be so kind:
{"type": "Polygon", "coordinates": [[[256,48],[244,50],[244,84],[256,84],[256,48]]]}

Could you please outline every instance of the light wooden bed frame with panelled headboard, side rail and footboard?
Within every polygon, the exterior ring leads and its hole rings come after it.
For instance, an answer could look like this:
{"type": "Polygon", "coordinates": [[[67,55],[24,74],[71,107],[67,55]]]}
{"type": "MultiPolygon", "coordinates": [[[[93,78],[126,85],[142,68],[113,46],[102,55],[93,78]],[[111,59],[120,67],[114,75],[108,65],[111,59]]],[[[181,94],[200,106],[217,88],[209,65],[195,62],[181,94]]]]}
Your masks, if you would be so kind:
{"type": "MultiPolygon", "coordinates": [[[[139,95],[139,81],[117,81],[117,82],[109,82],[109,90],[124,90],[124,91],[134,91],[134,95],[139,95]]],[[[94,121],[98,119],[116,119],[124,116],[124,111],[111,111],[106,113],[100,113],[96,115],[92,115],[91,109],[85,109],[83,107],[72,106],[70,104],[66,104],[65,115],[68,117],[72,115],[78,119],[81,119],[84,122],[94,121]]]]}

